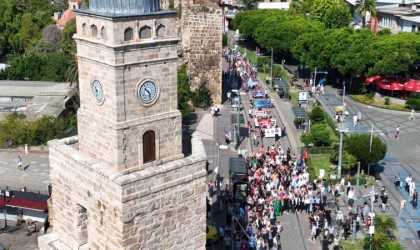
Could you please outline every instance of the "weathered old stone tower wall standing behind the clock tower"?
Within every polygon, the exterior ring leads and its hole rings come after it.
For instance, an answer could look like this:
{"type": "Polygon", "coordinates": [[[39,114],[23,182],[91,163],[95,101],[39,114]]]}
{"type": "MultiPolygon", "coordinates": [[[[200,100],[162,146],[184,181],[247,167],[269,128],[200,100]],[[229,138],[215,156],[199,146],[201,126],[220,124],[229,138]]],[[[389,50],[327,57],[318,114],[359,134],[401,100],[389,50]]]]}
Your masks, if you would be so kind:
{"type": "Polygon", "coordinates": [[[222,9],[212,1],[181,1],[182,56],[188,61],[191,90],[201,84],[215,104],[222,94],[222,9]]]}

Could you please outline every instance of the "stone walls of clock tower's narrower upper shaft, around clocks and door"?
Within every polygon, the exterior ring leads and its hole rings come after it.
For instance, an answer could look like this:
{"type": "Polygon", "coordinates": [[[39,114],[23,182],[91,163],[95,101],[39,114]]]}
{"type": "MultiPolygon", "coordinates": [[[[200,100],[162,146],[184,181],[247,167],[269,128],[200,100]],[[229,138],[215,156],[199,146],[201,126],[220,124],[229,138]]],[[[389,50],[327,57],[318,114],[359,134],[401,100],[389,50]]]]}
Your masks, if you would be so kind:
{"type": "MultiPolygon", "coordinates": [[[[165,12],[166,13],[166,12],[165,12]]],[[[154,164],[182,157],[181,114],[177,109],[176,13],[124,17],[115,20],[77,14],[77,55],[81,107],[78,110],[80,151],[120,173],[149,167],[143,164],[142,136],[145,128],[157,133],[154,164]],[[93,36],[91,27],[107,30],[107,36],[93,36]],[[165,27],[157,36],[157,27],[165,27]],[[139,30],[148,26],[151,37],[141,39],[139,30]],[[133,29],[133,38],[124,40],[124,30],[133,29]],[[111,32],[112,31],[112,32],[111,32]],[[102,84],[104,100],[92,93],[92,82],[102,84]],[[139,100],[144,81],[158,86],[153,105],[139,100]]]]}

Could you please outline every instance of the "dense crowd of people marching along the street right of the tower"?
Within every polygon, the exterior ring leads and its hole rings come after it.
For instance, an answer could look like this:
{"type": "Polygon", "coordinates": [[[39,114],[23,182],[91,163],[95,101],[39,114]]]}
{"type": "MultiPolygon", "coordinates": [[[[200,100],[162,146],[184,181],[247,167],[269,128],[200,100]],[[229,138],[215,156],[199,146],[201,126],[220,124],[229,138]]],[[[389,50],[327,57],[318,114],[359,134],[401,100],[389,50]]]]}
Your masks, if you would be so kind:
{"type": "MultiPolygon", "coordinates": [[[[255,80],[258,79],[256,69],[245,57],[232,50],[225,50],[224,55],[231,65],[228,74],[238,79],[237,89],[248,90],[251,82],[254,89],[255,86],[259,86],[258,80],[255,80]]],[[[308,83],[314,96],[323,94],[322,84],[313,88],[314,86],[314,83],[308,83]]],[[[253,102],[256,94],[269,98],[267,91],[260,87],[257,89],[260,92],[251,91],[247,94],[250,100],[248,108],[250,120],[254,115],[252,110],[258,108],[253,102]]],[[[269,109],[266,111],[270,114],[269,109]]],[[[360,123],[360,120],[361,113],[355,114],[355,125],[360,123]]],[[[258,143],[263,141],[264,134],[253,126],[252,122],[248,122],[253,144],[251,152],[238,150],[238,156],[245,158],[247,165],[246,175],[242,179],[247,183],[247,191],[243,202],[235,204],[231,196],[231,192],[234,191],[226,186],[227,226],[219,228],[220,235],[226,235],[234,222],[240,228],[235,230],[237,249],[281,249],[283,231],[281,216],[289,213],[308,214],[307,230],[311,235],[309,240],[314,242],[319,240],[323,250],[340,249],[340,240],[347,241],[355,231],[362,229],[362,225],[364,230],[369,230],[375,213],[371,211],[371,205],[367,202],[355,205],[356,190],[350,182],[344,178],[335,183],[327,181],[323,176],[310,178],[305,164],[307,156],[296,155],[279,140],[286,135],[284,125],[281,128],[276,127],[279,136],[276,133],[274,144],[269,145],[258,143]],[[340,200],[343,200],[341,196],[347,201],[344,206],[340,206],[340,200]]],[[[396,188],[400,188],[401,181],[402,178],[398,174],[395,181],[396,188]]],[[[417,192],[414,181],[408,177],[405,183],[405,190],[409,192],[410,201],[416,208],[417,192]]],[[[382,213],[385,213],[389,209],[389,197],[385,187],[381,188],[380,194],[375,197],[375,202],[378,198],[380,199],[378,205],[382,213]]],[[[226,241],[225,243],[226,246],[230,244],[226,241]]]]}

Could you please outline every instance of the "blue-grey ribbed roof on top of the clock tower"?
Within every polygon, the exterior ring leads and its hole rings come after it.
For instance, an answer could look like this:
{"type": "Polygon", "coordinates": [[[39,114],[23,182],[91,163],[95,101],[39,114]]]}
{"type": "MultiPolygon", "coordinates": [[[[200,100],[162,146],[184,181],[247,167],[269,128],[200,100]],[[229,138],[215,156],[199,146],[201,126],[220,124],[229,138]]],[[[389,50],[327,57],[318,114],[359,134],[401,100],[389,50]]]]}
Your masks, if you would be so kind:
{"type": "Polygon", "coordinates": [[[159,0],[90,0],[89,12],[102,15],[143,15],[159,11],[159,0]]]}

